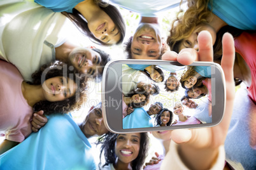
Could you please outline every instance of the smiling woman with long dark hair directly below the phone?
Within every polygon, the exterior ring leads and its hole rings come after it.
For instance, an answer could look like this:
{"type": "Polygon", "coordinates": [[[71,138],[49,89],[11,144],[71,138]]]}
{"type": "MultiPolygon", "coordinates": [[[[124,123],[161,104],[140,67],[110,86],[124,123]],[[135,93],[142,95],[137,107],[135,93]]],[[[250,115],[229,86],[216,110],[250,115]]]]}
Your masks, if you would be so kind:
{"type": "Polygon", "coordinates": [[[101,145],[102,157],[104,152],[105,163],[101,169],[134,169],[143,167],[148,155],[149,138],[147,133],[108,133],[101,145]]]}

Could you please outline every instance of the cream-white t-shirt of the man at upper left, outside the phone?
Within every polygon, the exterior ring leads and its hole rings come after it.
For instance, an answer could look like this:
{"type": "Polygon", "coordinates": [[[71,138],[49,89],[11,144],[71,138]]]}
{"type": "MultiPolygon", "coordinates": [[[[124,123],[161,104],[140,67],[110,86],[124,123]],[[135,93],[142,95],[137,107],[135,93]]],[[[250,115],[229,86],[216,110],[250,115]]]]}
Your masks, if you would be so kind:
{"type": "Polygon", "coordinates": [[[31,1],[11,2],[0,3],[0,58],[31,81],[33,72],[55,60],[55,48],[66,41],[68,18],[31,1]]]}

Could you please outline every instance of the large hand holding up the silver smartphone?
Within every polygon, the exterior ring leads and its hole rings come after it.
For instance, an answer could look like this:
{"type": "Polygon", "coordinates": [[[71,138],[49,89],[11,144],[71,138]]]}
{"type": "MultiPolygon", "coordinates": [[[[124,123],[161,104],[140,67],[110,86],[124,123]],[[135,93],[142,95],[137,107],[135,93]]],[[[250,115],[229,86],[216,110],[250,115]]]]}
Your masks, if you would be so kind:
{"type": "MultiPolygon", "coordinates": [[[[198,36],[198,42],[198,52],[194,49],[183,49],[179,55],[171,52],[171,55],[164,55],[162,58],[166,60],[169,57],[170,60],[177,60],[185,65],[189,65],[194,60],[212,62],[213,49],[210,34],[206,31],[201,32],[198,36]]],[[[235,93],[232,72],[234,65],[234,40],[231,34],[224,34],[222,48],[223,57],[221,65],[225,74],[226,86],[229,87],[226,89],[226,105],[222,122],[213,128],[177,129],[172,132],[172,140],[179,144],[177,145],[178,156],[188,169],[210,169],[215,164],[215,161],[219,160],[219,156],[223,155],[223,153],[220,153],[223,150],[225,137],[227,136],[231,121],[235,93]]],[[[171,160],[173,155],[171,155],[171,152],[167,153],[167,155],[162,164],[162,169],[170,167],[171,161],[169,160],[171,160]]],[[[221,166],[222,160],[219,161],[221,166]]]]}

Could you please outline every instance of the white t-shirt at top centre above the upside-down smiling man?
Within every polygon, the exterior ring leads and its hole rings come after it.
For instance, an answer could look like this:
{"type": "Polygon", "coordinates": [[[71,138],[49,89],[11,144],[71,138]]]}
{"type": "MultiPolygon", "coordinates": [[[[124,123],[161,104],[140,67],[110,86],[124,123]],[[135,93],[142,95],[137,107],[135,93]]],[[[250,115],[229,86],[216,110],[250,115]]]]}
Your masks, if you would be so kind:
{"type": "Polygon", "coordinates": [[[111,3],[122,6],[130,11],[140,13],[141,16],[155,17],[156,13],[170,10],[180,5],[180,0],[110,0],[111,3]]]}

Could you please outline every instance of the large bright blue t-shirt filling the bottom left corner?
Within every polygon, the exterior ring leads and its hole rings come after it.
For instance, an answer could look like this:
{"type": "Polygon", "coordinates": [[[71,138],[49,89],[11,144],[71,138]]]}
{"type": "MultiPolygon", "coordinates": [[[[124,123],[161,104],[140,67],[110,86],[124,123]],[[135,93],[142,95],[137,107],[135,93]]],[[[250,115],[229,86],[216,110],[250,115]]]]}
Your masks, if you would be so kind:
{"type": "Polygon", "coordinates": [[[0,169],[96,169],[90,148],[71,115],[50,115],[37,133],[0,155],[0,169]]]}

